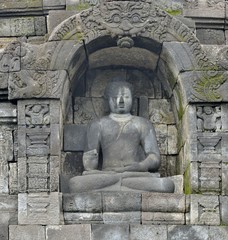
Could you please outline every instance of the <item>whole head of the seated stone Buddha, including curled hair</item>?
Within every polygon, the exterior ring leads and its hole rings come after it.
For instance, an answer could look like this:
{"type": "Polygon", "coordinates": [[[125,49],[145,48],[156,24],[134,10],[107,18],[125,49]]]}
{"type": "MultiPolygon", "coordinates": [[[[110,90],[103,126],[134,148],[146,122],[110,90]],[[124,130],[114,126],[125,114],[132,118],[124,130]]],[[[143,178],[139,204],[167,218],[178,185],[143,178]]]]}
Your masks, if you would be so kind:
{"type": "Polygon", "coordinates": [[[106,88],[106,96],[112,113],[130,113],[132,107],[133,87],[121,79],[113,80],[106,88]]]}

